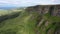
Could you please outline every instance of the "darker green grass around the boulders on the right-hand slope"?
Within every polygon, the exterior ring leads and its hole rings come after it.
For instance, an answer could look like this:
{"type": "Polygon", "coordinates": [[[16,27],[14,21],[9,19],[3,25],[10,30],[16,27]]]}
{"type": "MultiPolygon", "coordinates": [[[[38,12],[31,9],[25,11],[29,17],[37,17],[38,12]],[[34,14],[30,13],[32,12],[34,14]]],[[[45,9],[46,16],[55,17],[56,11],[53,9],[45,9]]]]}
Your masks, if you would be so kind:
{"type": "MultiPolygon", "coordinates": [[[[49,34],[54,34],[56,28],[59,26],[57,24],[60,23],[60,17],[59,16],[51,16],[49,13],[43,15],[43,18],[45,19],[45,21],[49,21],[48,26],[45,26],[44,24],[42,24],[42,26],[39,28],[41,34],[47,34],[47,32],[49,30],[51,30],[52,32],[50,32],[49,34]],[[45,29],[45,30],[43,30],[45,29]],[[44,33],[43,33],[44,32],[44,33]]],[[[46,22],[44,22],[46,23],[46,22]]]]}

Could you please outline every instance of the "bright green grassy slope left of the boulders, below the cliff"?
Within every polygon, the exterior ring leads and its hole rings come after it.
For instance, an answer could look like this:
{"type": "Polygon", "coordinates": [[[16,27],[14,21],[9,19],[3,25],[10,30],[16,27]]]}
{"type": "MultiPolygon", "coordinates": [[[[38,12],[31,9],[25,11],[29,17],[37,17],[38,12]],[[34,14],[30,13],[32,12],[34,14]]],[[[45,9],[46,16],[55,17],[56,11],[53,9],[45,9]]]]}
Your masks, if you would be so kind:
{"type": "Polygon", "coordinates": [[[22,12],[20,16],[5,20],[0,25],[0,34],[35,34],[37,13],[22,12]]]}

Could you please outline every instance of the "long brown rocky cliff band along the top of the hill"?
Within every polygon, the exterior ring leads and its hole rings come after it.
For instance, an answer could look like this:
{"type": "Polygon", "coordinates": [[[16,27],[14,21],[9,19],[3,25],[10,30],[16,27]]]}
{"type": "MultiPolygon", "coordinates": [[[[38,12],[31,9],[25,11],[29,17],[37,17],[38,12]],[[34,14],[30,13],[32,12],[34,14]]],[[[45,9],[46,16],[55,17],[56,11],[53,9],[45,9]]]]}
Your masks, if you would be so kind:
{"type": "Polygon", "coordinates": [[[52,16],[60,16],[60,5],[37,5],[27,7],[26,11],[32,12],[37,11],[40,14],[50,13],[52,16]]]}

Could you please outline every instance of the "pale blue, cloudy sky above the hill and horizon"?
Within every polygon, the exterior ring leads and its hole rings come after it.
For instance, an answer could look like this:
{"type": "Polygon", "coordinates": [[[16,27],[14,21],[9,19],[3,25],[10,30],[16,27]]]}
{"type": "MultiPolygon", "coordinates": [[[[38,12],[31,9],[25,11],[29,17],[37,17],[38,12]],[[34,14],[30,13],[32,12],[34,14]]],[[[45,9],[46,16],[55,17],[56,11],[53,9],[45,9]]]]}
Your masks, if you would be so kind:
{"type": "Polygon", "coordinates": [[[0,7],[60,4],[60,0],[0,0],[0,7]]]}

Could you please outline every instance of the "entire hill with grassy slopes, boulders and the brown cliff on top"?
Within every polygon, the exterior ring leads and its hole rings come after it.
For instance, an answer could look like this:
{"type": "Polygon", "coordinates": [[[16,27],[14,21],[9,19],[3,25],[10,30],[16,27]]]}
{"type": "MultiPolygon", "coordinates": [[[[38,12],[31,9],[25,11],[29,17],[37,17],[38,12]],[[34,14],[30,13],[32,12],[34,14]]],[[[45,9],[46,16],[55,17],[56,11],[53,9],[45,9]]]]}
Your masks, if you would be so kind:
{"type": "Polygon", "coordinates": [[[37,5],[0,16],[0,34],[60,34],[60,5],[37,5]]]}

